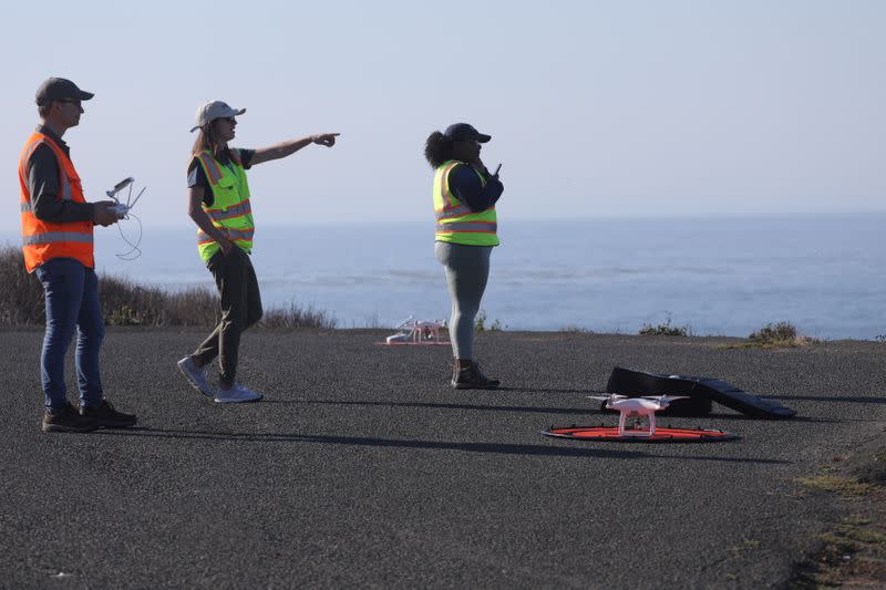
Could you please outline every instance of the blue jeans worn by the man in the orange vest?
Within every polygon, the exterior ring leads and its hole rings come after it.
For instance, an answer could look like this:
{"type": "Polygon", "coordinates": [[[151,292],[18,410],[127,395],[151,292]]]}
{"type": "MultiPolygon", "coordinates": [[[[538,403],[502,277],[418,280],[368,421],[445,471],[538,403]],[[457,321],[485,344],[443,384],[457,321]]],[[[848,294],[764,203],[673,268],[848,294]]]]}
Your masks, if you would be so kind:
{"type": "Polygon", "coordinates": [[[49,411],[68,403],[64,358],[76,328],[76,384],[81,407],[102,403],[99,352],[104,317],[99,303],[95,271],[72,258],[53,258],[37,268],[47,301],[47,333],[40,356],[40,379],[49,411]]]}

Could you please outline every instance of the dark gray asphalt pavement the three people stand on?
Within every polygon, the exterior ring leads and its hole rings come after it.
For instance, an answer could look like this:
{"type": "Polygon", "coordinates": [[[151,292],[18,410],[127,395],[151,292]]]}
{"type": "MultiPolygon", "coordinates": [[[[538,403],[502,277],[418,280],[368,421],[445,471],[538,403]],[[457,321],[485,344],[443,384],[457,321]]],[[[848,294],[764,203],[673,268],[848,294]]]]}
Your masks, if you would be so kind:
{"type": "Polygon", "coordinates": [[[0,586],[779,587],[841,518],[797,479],[886,424],[879,342],[484,332],[503,385],[486,392],[449,387],[445,346],[255,330],[239,376],[266,398],[220,405],[175,366],[203,335],[110,329],[105,395],[138,425],[82,435],[40,431],[42,330],[0,332],[0,586]],[[797,417],[660,422],[727,443],[539,434],[615,425],[586,398],[615,365],[722,379],[797,417]]]}

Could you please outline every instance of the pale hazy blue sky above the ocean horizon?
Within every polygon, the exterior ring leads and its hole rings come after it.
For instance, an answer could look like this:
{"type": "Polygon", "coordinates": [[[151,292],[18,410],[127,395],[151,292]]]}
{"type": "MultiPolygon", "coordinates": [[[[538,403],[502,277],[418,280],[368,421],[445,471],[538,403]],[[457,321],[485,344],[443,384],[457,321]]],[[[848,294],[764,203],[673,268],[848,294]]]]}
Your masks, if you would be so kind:
{"type": "Polygon", "coordinates": [[[885,30],[879,0],[19,2],[2,186],[59,75],[96,93],[65,135],[87,197],[135,176],[152,226],[189,224],[209,99],[248,108],[243,147],[342,133],[253,170],[259,225],[430,221],[423,143],[456,121],[493,135],[503,220],[886,210],[885,30]]]}

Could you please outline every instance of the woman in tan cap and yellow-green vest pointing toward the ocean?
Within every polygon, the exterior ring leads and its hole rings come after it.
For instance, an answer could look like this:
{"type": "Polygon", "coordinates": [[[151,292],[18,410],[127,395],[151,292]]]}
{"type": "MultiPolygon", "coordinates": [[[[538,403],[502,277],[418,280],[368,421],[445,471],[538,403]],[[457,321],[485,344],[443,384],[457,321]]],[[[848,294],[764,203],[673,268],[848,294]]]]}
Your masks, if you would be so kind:
{"type": "Polygon", "coordinates": [[[236,135],[237,115],[212,101],[197,108],[199,130],[188,165],[188,215],[197,224],[197,250],[215,278],[222,298],[222,321],[178,369],[197,391],[220,403],[255,402],[261,394],[237,383],[240,333],[261,319],[261,296],[249,260],[253,211],[246,170],[256,164],[291,155],[310,144],[331,147],[338,133],[311,135],[260,149],[228,147],[236,135]],[[209,385],[206,366],[219,358],[218,389],[209,385]]]}

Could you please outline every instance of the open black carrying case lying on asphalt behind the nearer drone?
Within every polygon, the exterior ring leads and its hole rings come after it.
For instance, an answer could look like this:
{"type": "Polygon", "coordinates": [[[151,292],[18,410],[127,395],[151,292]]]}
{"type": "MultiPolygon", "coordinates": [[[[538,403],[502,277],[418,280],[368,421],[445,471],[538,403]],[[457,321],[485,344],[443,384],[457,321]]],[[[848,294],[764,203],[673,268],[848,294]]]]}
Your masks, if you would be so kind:
{"type": "MultiPolygon", "coordinates": [[[[660,415],[705,416],[711,413],[711,402],[755,418],[783,420],[796,412],[773,400],[742,391],[719,379],[689,375],[664,375],[616,366],[606,384],[607,393],[619,393],[628,397],[643,395],[688,395],[688,400],[674,400],[660,415]]],[[[602,403],[602,407],[606,402],[602,403]]]]}

